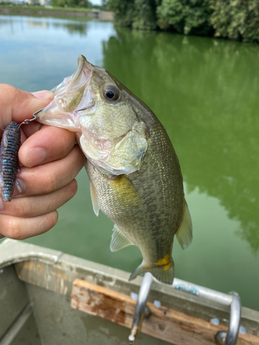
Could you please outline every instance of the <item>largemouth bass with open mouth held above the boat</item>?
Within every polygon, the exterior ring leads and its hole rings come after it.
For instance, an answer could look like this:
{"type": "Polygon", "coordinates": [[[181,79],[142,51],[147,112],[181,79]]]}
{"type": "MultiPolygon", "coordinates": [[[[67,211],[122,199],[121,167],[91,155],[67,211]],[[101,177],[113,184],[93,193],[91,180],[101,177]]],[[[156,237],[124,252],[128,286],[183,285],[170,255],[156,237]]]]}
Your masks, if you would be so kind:
{"type": "Polygon", "coordinates": [[[135,245],[143,261],[129,280],[151,272],[172,284],[176,235],[192,240],[182,172],[166,130],[148,106],[81,55],[37,121],[74,131],[86,156],[93,210],[114,222],[111,251],[135,245]]]}

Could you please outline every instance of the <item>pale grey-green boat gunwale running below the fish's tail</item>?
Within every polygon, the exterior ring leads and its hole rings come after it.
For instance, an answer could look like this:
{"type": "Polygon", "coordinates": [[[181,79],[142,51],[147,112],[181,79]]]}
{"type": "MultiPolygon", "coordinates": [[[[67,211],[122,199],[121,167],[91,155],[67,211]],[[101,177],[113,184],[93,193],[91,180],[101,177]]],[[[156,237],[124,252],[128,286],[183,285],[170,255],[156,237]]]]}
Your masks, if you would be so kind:
{"type": "MultiPolygon", "coordinates": [[[[118,292],[131,295],[131,292],[138,293],[142,283],[142,277],[137,277],[133,282],[128,282],[128,273],[117,268],[111,268],[103,264],[90,262],[73,255],[64,254],[58,250],[35,246],[26,242],[19,242],[13,239],[5,239],[0,244],[0,273],[6,266],[15,265],[17,275],[19,269],[24,264],[32,262],[32,265],[46,266],[47,270],[59,271],[59,275],[67,275],[66,289],[56,292],[70,296],[73,280],[76,278],[94,282],[97,285],[105,286],[118,292]],[[20,263],[20,264],[19,264],[20,263]]],[[[21,279],[21,277],[19,277],[21,279]]],[[[35,282],[27,283],[35,284],[35,282]]],[[[178,279],[179,282],[180,279],[178,279]]],[[[185,282],[187,283],[187,282],[185,282]]],[[[37,284],[48,288],[46,282],[37,284]]],[[[194,285],[194,284],[191,284],[194,285]]],[[[50,290],[53,290],[50,288],[50,290]]],[[[200,317],[209,321],[213,317],[220,319],[220,324],[228,325],[229,306],[221,304],[215,300],[209,300],[202,296],[191,295],[182,290],[177,290],[172,286],[165,286],[159,282],[153,282],[151,293],[148,298],[150,302],[158,299],[162,305],[181,311],[186,315],[200,317]]],[[[259,335],[259,311],[242,307],[241,324],[247,328],[247,333],[259,335]]]]}

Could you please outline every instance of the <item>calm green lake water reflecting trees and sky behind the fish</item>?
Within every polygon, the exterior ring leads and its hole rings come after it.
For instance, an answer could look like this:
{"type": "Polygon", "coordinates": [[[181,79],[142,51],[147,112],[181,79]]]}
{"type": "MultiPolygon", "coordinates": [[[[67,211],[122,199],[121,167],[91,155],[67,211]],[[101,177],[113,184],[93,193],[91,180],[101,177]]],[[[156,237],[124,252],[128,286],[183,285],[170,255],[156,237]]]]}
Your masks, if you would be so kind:
{"type": "MultiPolygon", "coordinates": [[[[112,23],[0,17],[0,82],[51,89],[83,54],[157,115],[175,147],[193,219],[193,244],[175,241],[175,276],[259,310],[259,46],[112,23]]],[[[132,272],[138,248],[111,253],[113,224],[92,210],[88,178],[57,226],[27,242],[132,272]]]]}

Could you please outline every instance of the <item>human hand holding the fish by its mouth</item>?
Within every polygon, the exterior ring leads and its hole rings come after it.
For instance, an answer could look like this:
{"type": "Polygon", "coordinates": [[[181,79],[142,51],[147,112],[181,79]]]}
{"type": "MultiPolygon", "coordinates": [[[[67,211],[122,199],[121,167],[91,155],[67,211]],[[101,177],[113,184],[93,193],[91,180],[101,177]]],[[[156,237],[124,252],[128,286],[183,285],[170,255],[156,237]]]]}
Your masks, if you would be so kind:
{"type": "MultiPolygon", "coordinates": [[[[50,91],[31,94],[0,84],[0,127],[31,119],[53,97],[50,91]]],[[[86,161],[75,145],[75,133],[61,128],[32,121],[21,126],[21,143],[17,179],[22,192],[15,188],[8,203],[0,197],[0,238],[26,239],[55,226],[57,208],[77,192],[75,177],[86,161]]]]}

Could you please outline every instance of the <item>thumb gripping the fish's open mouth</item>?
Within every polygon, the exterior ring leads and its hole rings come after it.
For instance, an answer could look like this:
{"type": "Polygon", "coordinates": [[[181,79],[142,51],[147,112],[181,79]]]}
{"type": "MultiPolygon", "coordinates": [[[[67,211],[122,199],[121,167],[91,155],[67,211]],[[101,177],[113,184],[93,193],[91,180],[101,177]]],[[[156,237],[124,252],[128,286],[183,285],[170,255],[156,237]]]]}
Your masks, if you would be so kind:
{"type": "Polygon", "coordinates": [[[19,124],[25,119],[31,119],[32,114],[50,103],[54,95],[44,90],[26,92],[7,84],[0,84],[0,125],[6,128],[10,121],[19,124]]]}

